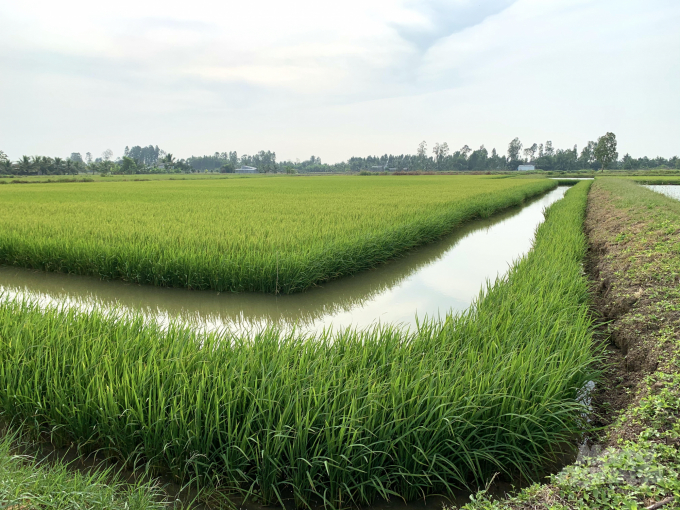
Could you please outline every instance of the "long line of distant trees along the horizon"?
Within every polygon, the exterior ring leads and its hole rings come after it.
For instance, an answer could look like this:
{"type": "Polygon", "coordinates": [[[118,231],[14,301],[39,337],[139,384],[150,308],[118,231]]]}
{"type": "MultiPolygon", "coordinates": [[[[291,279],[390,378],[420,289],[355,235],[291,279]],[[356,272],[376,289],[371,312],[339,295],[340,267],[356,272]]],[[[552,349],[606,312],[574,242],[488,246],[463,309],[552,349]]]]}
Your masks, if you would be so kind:
{"type": "Polygon", "coordinates": [[[126,146],[123,156],[115,160],[110,149],[96,158],[90,152],[85,153],[84,158],[74,152],[68,158],[23,156],[14,162],[0,151],[0,173],[6,175],[232,173],[243,166],[255,167],[262,173],[479,172],[517,170],[520,165],[534,165],[536,169],[546,171],[680,169],[680,159],[677,156],[669,159],[647,156],[633,158],[630,154],[619,159],[614,133],[606,133],[597,141],[589,141],[580,151],[576,145],[557,149],[550,140],[524,145],[519,138],[514,138],[508,144],[506,154],[499,154],[495,148],[489,152],[484,145],[476,150],[464,145],[451,152],[446,142],[435,143],[430,151],[427,142],[423,141],[414,154],[351,157],[347,161],[331,164],[322,163],[321,158],[316,156],[304,161],[277,161],[276,152],[269,150],[252,155],[239,156],[236,151],[228,151],[177,159],[158,145],[126,146]]]}

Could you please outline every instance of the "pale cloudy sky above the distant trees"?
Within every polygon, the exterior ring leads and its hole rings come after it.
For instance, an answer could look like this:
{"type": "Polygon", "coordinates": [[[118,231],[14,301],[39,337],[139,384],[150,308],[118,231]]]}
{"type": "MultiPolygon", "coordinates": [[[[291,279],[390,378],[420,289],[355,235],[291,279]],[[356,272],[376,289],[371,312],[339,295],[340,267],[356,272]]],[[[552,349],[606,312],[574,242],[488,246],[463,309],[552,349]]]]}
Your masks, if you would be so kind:
{"type": "Polygon", "coordinates": [[[678,0],[0,0],[0,150],[680,155],[678,0]]]}

